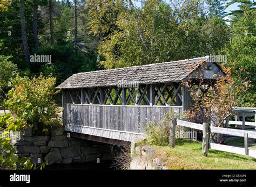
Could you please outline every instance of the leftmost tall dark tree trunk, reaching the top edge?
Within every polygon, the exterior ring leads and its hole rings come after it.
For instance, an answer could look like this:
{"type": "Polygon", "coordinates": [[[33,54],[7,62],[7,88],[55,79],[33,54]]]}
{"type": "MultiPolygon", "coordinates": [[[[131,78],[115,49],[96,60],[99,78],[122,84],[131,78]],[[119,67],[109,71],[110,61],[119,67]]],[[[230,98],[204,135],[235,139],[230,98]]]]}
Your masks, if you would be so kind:
{"type": "Polygon", "coordinates": [[[25,56],[25,61],[29,63],[29,44],[28,44],[28,38],[26,37],[24,0],[20,0],[19,3],[20,3],[19,12],[21,13],[21,30],[22,30],[23,52],[24,52],[24,56],[25,56]]]}

